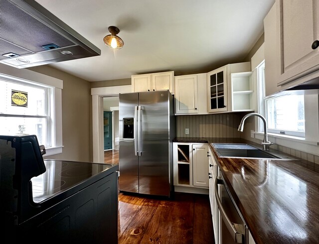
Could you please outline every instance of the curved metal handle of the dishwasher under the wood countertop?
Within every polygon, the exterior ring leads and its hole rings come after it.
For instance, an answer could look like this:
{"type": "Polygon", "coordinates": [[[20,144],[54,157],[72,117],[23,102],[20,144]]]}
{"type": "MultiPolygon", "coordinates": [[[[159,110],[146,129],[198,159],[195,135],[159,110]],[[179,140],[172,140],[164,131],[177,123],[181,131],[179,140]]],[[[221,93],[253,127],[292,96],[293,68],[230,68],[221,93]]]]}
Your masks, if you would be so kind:
{"type": "MultiPolygon", "coordinates": [[[[224,223],[229,231],[231,233],[231,236],[236,243],[244,243],[244,234],[240,233],[238,229],[242,229],[242,225],[232,223],[227,215],[225,210],[223,209],[223,206],[221,205],[221,201],[218,195],[218,185],[224,185],[224,181],[222,178],[216,177],[215,179],[215,198],[217,202],[217,206],[219,209],[219,212],[221,214],[222,219],[224,220],[224,223]]],[[[228,194],[228,193],[227,193],[228,194]]]]}

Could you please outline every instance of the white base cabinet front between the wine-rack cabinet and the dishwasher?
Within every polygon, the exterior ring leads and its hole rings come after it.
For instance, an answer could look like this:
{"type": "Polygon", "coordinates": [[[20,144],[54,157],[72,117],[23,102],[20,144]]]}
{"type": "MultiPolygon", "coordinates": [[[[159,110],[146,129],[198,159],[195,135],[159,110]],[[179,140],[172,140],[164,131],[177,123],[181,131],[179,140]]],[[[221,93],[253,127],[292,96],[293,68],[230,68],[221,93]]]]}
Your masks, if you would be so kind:
{"type": "Polygon", "coordinates": [[[219,231],[218,207],[217,207],[217,202],[216,202],[216,198],[215,198],[215,191],[214,191],[215,180],[217,177],[217,164],[216,164],[216,161],[214,159],[214,154],[210,148],[208,150],[208,167],[209,167],[208,178],[209,178],[210,210],[211,210],[211,216],[212,216],[212,221],[213,221],[215,244],[219,244],[219,242],[218,242],[218,231],[219,231]]]}

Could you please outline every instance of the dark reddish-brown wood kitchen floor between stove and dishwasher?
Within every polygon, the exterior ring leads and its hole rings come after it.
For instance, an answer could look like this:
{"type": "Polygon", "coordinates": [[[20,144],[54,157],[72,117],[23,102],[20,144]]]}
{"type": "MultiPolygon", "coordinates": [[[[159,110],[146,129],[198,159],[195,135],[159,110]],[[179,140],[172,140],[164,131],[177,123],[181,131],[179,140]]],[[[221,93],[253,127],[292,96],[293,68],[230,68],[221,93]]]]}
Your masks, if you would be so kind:
{"type": "Polygon", "coordinates": [[[214,244],[208,195],[119,194],[119,244],[214,244]]]}

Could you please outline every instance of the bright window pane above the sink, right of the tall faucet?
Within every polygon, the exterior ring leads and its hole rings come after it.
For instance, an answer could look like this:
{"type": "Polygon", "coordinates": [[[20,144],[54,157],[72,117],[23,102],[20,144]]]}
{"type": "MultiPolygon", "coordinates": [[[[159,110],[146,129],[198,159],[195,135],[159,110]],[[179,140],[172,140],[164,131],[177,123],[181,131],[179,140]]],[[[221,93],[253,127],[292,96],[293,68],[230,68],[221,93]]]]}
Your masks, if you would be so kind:
{"type": "Polygon", "coordinates": [[[304,95],[287,95],[267,101],[268,128],[305,132],[304,95]]]}

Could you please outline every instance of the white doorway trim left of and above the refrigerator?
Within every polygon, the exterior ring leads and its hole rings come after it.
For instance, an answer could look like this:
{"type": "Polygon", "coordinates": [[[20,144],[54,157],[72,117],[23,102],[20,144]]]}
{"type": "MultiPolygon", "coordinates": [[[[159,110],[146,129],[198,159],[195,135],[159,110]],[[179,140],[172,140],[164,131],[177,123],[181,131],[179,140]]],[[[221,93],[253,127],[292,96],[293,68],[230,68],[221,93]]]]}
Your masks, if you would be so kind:
{"type": "Polygon", "coordinates": [[[130,93],[131,85],[98,87],[91,89],[92,95],[92,134],[93,162],[104,163],[103,141],[103,97],[118,96],[120,93],[130,93]]]}

